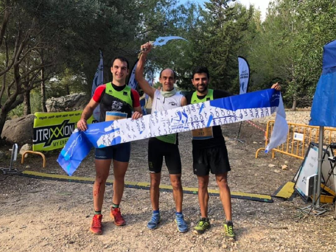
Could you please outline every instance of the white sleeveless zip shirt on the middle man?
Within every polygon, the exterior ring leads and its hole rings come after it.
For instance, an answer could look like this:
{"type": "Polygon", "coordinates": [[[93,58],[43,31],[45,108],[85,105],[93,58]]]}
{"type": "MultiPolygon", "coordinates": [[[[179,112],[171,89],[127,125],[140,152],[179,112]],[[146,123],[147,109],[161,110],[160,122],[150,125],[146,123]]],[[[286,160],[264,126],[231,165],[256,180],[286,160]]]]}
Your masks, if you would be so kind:
{"type": "Polygon", "coordinates": [[[181,107],[182,97],[183,95],[178,92],[170,97],[163,97],[160,90],[155,90],[151,113],[153,114],[155,111],[165,111],[181,107]]]}

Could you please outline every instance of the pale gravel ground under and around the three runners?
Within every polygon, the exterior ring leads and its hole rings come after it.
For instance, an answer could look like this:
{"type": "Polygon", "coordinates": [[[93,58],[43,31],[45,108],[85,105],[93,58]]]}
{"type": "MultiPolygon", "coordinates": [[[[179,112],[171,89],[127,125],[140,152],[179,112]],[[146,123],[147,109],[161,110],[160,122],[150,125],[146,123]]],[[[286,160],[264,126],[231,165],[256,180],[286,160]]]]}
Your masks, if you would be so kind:
{"type": "MultiPolygon", "coordinates": [[[[264,127],[264,126],[262,126],[264,127]]],[[[231,191],[272,194],[290,181],[301,160],[286,155],[261,154],[263,132],[243,122],[241,139],[245,144],[229,140],[237,136],[239,124],[223,127],[232,171],[228,182],[231,191]],[[284,171],[281,166],[288,165],[284,171]],[[275,167],[269,168],[273,164],[275,167]]],[[[182,184],[196,187],[192,173],[190,132],[179,135],[182,157],[182,184]]],[[[0,150],[7,151],[9,146],[0,150]]],[[[42,168],[40,157],[29,156],[24,165],[15,168],[48,173],[65,174],[56,163],[59,151],[46,153],[47,167],[42,168]]],[[[132,143],[132,155],[126,173],[128,181],[149,182],[147,168],[147,140],[132,143]]],[[[94,177],[93,152],[83,161],[74,175],[94,177]]],[[[8,167],[9,159],[0,161],[8,167]]],[[[112,176],[111,169],[110,178],[112,176]]],[[[237,241],[223,236],[223,209],[219,197],[209,199],[211,229],[203,235],[192,232],[200,217],[196,195],[184,195],[183,212],[190,230],[178,233],[174,223],[172,194],[160,194],[160,212],[163,221],[156,230],[148,230],[151,216],[149,191],[125,188],[121,203],[127,221],[123,227],[115,226],[109,217],[112,186],[107,186],[103,205],[103,235],[89,232],[93,213],[92,184],[40,180],[20,176],[0,175],[0,251],[336,251],[333,234],[334,204],[320,217],[303,216],[298,208],[306,204],[296,197],[293,201],[275,199],[274,203],[261,203],[233,199],[233,218],[237,241]]],[[[162,171],[161,183],[169,184],[167,168],[162,171]]],[[[209,187],[217,189],[214,176],[209,187]]]]}

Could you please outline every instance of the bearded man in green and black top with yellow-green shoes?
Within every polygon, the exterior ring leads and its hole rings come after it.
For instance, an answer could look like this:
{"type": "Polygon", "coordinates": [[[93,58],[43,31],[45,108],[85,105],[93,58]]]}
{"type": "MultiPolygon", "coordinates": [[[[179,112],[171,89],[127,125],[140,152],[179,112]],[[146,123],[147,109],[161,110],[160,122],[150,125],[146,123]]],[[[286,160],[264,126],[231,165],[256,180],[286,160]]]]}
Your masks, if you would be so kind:
{"type": "MultiPolygon", "coordinates": [[[[192,73],[192,83],[196,91],[186,96],[188,104],[204,102],[230,96],[223,90],[212,90],[208,88],[210,74],[206,67],[197,67],[192,73]]],[[[280,90],[278,83],[271,88],[280,90]]],[[[220,200],[223,205],[225,220],[223,223],[225,236],[236,239],[233,229],[231,194],[227,184],[227,172],[231,170],[225,140],[221,127],[212,126],[203,129],[195,129],[193,133],[193,170],[198,178],[198,199],[201,209],[201,219],[194,227],[194,233],[203,234],[209,227],[208,218],[208,183],[209,173],[216,176],[219,187],[220,200]]]]}

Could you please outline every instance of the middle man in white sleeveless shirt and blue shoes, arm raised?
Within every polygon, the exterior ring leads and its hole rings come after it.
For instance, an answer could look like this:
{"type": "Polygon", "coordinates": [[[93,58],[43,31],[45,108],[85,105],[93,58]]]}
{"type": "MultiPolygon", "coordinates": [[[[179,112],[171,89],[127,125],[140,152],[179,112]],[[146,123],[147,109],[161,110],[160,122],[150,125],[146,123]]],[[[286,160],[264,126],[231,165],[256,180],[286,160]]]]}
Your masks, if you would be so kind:
{"type": "MultiPolygon", "coordinates": [[[[139,58],[135,70],[135,79],[141,89],[148,94],[153,101],[152,114],[158,111],[165,111],[185,106],[187,104],[186,98],[182,94],[177,93],[174,88],[176,75],[172,69],[166,68],[161,71],[159,77],[159,81],[162,84],[161,90],[151,87],[144,78],[143,68],[147,54],[151,51],[151,49],[152,45],[150,43],[141,45],[143,53],[139,58]]],[[[153,214],[151,220],[147,224],[147,227],[149,229],[155,229],[161,221],[159,212],[159,185],[161,180],[163,157],[165,157],[171,185],[173,187],[173,197],[176,205],[175,222],[178,231],[184,233],[188,230],[188,227],[182,214],[183,191],[181,185],[181,158],[178,150],[177,134],[152,137],[148,142],[148,165],[151,175],[151,202],[153,214]]]]}

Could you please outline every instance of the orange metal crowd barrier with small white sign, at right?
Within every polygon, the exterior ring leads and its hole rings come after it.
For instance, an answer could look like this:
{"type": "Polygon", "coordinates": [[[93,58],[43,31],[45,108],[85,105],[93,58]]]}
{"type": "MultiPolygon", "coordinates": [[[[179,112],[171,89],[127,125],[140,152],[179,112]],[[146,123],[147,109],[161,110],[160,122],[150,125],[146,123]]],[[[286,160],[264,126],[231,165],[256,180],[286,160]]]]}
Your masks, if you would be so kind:
{"type": "MultiPolygon", "coordinates": [[[[304,159],[306,149],[310,142],[319,141],[319,126],[310,126],[299,123],[288,123],[287,140],[277,148],[272,149],[272,158],[275,152],[287,154],[289,156],[304,159]]],[[[270,138],[270,134],[274,127],[274,120],[267,122],[265,148],[259,148],[255,153],[255,158],[258,158],[258,153],[265,150],[270,138]]],[[[324,143],[330,144],[336,141],[336,128],[324,127],[324,143]]]]}

